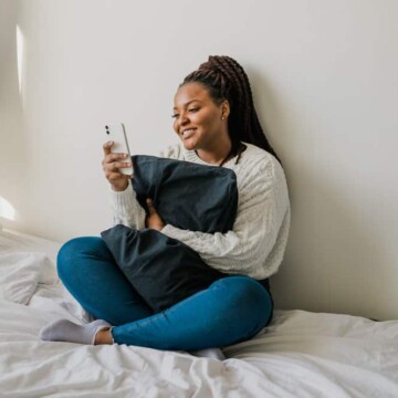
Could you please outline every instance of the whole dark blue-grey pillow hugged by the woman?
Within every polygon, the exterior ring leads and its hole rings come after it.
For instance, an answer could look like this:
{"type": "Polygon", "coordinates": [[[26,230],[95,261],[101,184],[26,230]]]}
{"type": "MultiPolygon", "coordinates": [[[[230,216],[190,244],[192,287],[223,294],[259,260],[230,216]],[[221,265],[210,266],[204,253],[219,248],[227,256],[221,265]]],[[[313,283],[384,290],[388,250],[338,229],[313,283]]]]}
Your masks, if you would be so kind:
{"type": "MultiPolygon", "coordinates": [[[[201,232],[232,229],[237,179],[232,170],[188,161],[134,156],[133,187],[146,209],[146,199],[166,223],[201,232]]],[[[182,242],[156,230],[116,226],[102,238],[117,265],[144,301],[160,312],[226,276],[207,265],[182,242]]]]}

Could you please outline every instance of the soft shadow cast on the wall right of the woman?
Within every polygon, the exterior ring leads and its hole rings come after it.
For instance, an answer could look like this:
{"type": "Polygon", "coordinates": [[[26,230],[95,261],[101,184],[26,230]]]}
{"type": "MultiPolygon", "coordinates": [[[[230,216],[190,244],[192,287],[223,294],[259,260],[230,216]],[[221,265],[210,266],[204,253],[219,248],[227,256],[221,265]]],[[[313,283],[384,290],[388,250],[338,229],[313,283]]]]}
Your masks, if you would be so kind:
{"type": "Polygon", "coordinates": [[[259,118],[283,163],[292,203],[285,259],[272,277],[276,308],[390,318],[394,310],[386,303],[392,293],[386,286],[391,285],[387,268],[392,260],[383,237],[375,235],[383,227],[377,214],[367,211],[373,206],[349,181],[355,174],[336,177],[336,165],[327,164],[323,151],[338,149],[314,139],[320,132],[311,121],[305,124],[300,104],[282,98],[262,71],[248,72],[259,118]]]}

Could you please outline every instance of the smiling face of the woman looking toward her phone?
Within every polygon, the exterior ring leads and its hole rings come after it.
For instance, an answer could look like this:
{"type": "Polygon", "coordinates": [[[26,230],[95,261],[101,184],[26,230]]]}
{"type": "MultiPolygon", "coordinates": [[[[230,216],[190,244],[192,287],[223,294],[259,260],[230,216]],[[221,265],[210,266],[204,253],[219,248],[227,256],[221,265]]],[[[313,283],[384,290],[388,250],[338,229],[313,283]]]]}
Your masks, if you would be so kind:
{"type": "Polygon", "coordinates": [[[228,114],[227,101],[218,105],[203,85],[187,83],[175,96],[174,129],[186,149],[211,149],[228,137],[228,114]]]}

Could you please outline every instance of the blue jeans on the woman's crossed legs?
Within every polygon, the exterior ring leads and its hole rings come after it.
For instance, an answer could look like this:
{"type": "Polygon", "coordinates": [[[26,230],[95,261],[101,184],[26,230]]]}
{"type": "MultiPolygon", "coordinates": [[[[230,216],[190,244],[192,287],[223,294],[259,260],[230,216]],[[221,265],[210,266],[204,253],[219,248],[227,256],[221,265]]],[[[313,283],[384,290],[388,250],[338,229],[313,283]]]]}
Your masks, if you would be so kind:
{"type": "Polygon", "coordinates": [[[222,347],[259,333],[272,297],[258,281],[227,276],[154,314],[116,265],[101,238],[76,238],[57,255],[60,279],[94,317],[112,325],[115,343],[158,349],[222,347]]]}

